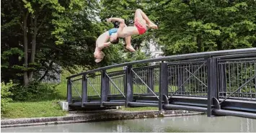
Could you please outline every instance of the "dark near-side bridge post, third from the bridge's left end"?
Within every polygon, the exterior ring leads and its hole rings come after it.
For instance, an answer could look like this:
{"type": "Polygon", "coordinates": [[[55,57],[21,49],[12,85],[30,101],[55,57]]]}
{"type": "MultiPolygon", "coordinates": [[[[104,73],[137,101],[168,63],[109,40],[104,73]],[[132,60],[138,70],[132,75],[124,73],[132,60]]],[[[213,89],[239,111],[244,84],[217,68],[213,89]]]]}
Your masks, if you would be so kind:
{"type": "Polygon", "coordinates": [[[100,107],[104,107],[103,103],[105,101],[107,101],[107,95],[110,91],[110,86],[107,86],[109,85],[108,83],[108,79],[107,79],[107,75],[106,75],[106,70],[102,70],[102,75],[101,75],[101,104],[100,104],[100,107]]]}

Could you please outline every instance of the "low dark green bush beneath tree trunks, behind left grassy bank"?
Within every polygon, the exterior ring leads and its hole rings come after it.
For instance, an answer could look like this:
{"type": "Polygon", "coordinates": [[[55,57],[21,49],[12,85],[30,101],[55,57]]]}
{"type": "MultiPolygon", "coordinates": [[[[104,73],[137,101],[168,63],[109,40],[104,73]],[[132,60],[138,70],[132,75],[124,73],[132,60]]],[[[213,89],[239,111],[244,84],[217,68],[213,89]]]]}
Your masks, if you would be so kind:
{"type": "Polygon", "coordinates": [[[30,83],[29,86],[19,86],[12,91],[14,101],[43,101],[58,98],[55,84],[30,83]]]}

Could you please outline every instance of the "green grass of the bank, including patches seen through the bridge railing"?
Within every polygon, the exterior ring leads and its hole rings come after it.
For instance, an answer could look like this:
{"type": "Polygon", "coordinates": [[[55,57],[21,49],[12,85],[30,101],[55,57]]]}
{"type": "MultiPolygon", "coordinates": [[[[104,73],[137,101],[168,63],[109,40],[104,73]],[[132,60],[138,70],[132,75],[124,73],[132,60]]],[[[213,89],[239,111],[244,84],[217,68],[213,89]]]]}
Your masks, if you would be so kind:
{"type": "MultiPolygon", "coordinates": [[[[107,70],[108,73],[112,71],[117,70],[123,70],[123,68],[112,68],[110,70],[107,70]]],[[[81,70],[80,70],[81,71],[81,70]]],[[[80,72],[79,72],[80,73],[80,72]]],[[[58,105],[58,101],[66,100],[66,77],[71,75],[67,70],[63,70],[61,73],[61,83],[56,86],[56,91],[58,93],[58,96],[56,98],[53,98],[53,100],[46,99],[45,101],[36,101],[36,102],[13,102],[9,103],[6,107],[6,114],[1,115],[4,118],[32,118],[32,117],[49,117],[49,116],[65,116],[68,114],[67,111],[62,111],[61,106],[58,105]]],[[[96,81],[96,78],[92,78],[92,83],[94,85],[94,88],[100,93],[100,83],[96,81]]],[[[118,87],[121,88],[123,91],[123,78],[118,78],[116,80],[119,81],[118,87]]],[[[115,80],[114,80],[115,81],[115,80]]],[[[74,83],[74,86],[76,86],[77,91],[81,94],[81,81],[77,81],[77,83],[74,83]]],[[[133,93],[141,93],[141,88],[143,91],[146,92],[146,86],[144,85],[136,85],[136,89],[133,89],[133,93]]],[[[158,92],[159,86],[154,86],[154,91],[158,92]]],[[[88,83],[88,93],[91,93],[90,96],[96,95],[96,92],[92,87],[89,87],[88,83]]],[[[120,94],[117,89],[112,86],[112,83],[110,83],[110,91],[112,94],[120,94]]],[[[73,96],[79,96],[74,88],[72,88],[72,94],[73,96]]],[[[138,107],[138,108],[123,108],[121,109],[123,111],[148,111],[148,110],[158,110],[156,107],[138,107]]]]}

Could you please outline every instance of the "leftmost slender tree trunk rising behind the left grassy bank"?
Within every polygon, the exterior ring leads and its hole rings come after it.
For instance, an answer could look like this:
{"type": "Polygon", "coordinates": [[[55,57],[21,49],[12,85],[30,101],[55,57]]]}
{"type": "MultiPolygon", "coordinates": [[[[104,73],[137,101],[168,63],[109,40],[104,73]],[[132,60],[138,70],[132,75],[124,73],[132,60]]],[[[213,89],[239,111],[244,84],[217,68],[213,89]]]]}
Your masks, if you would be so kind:
{"type": "MultiPolygon", "coordinates": [[[[25,68],[27,68],[27,62],[28,62],[28,54],[27,54],[27,17],[29,12],[27,11],[25,13],[25,16],[23,17],[23,38],[24,38],[24,65],[25,68]]],[[[24,71],[24,85],[27,86],[29,83],[29,79],[27,76],[27,70],[24,71]]]]}

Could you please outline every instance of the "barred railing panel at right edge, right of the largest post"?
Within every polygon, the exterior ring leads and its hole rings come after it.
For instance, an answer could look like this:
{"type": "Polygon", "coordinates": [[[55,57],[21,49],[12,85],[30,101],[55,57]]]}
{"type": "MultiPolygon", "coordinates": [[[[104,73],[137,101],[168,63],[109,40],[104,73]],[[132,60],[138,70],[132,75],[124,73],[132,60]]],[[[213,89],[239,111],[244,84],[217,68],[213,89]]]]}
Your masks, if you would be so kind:
{"type": "Polygon", "coordinates": [[[256,58],[219,60],[219,73],[219,98],[256,101],[256,58]]]}

